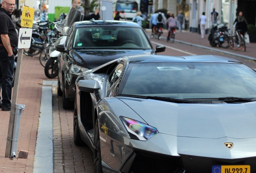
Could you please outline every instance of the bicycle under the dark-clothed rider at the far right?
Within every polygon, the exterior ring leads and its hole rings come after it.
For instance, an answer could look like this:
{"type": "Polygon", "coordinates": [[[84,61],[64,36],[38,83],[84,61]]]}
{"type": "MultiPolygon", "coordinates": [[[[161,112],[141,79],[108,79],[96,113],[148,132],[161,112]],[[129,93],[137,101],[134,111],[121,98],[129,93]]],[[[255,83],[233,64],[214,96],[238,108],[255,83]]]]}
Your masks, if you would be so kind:
{"type": "Polygon", "coordinates": [[[229,36],[229,46],[233,50],[242,49],[244,52],[246,51],[246,43],[244,40],[244,36],[241,33],[242,30],[235,30],[235,34],[229,36]]]}

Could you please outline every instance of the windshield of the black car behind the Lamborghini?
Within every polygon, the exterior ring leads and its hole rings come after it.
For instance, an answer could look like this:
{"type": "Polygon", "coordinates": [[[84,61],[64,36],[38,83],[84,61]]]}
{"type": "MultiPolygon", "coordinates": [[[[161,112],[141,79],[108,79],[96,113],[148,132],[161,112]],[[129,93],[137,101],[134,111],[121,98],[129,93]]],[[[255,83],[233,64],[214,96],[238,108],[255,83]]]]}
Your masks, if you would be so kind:
{"type": "Polygon", "coordinates": [[[74,33],[74,49],[152,49],[147,35],[138,27],[84,27],[74,33]]]}

